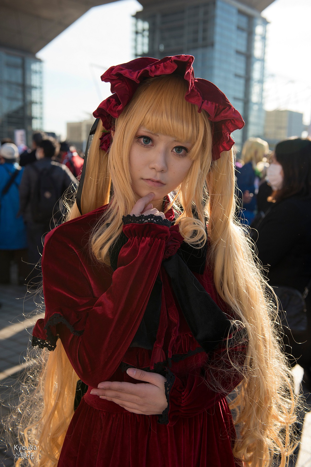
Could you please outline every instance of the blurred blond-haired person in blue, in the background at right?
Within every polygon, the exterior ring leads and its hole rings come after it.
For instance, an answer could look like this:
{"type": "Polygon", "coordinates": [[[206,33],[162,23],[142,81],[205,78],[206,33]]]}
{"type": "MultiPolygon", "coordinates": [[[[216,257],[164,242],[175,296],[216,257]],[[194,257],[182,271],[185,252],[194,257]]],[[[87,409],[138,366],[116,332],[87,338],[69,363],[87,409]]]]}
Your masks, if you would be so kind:
{"type": "Polygon", "coordinates": [[[249,138],[243,145],[242,160],[235,163],[237,197],[240,199],[237,215],[241,224],[250,225],[256,215],[256,194],[260,181],[256,166],[268,153],[266,141],[249,138]]]}

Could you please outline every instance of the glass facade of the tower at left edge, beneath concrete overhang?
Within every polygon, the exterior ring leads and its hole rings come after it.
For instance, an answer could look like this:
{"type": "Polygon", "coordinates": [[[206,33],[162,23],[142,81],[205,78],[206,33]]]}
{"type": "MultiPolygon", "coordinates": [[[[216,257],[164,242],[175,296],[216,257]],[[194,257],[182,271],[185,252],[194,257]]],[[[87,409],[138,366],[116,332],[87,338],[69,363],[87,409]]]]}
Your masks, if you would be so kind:
{"type": "Polygon", "coordinates": [[[0,48],[0,138],[25,129],[31,145],[33,130],[42,129],[42,62],[35,56],[0,48]]]}

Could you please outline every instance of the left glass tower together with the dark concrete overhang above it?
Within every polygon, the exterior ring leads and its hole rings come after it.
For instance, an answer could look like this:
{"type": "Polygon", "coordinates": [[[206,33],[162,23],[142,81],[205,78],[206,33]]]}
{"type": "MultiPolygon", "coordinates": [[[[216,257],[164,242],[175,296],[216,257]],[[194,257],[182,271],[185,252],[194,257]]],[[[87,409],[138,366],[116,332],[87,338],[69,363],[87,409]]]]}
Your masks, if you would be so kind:
{"type": "Polygon", "coordinates": [[[83,13],[115,0],[0,2],[0,138],[42,129],[42,63],[35,54],[83,13]]]}

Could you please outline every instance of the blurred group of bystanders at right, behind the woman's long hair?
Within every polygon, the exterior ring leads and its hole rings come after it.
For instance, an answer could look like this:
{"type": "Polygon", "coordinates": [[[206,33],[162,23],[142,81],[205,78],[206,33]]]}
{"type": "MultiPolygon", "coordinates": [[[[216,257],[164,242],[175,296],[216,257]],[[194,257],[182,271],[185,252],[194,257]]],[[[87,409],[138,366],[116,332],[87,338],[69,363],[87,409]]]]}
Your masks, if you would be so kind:
{"type": "MultiPolygon", "coordinates": [[[[311,404],[311,140],[290,138],[273,151],[249,138],[236,160],[237,216],[249,231],[259,265],[279,303],[283,350],[303,368],[303,392],[311,404]]],[[[301,410],[297,439],[304,423],[301,410]]],[[[297,447],[290,466],[294,466],[297,447]]]]}

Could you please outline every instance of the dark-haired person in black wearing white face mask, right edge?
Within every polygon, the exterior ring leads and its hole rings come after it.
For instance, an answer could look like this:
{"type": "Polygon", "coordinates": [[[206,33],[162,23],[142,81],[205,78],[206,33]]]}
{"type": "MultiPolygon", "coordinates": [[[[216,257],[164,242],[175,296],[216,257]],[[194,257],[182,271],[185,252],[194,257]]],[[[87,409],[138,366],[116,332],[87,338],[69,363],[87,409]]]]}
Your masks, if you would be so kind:
{"type": "MultiPolygon", "coordinates": [[[[268,267],[269,284],[292,287],[303,294],[311,279],[311,140],[292,138],[278,143],[268,178],[273,189],[271,205],[252,226],[251,236],[263,267],[268,267]]],[[[297,361],[304,368],[304,381],[310,388],[311,292],[306,304],[307,331],[295,335],[296,339],[289,336],[289,344],[293,364],[297,361]]]]}

